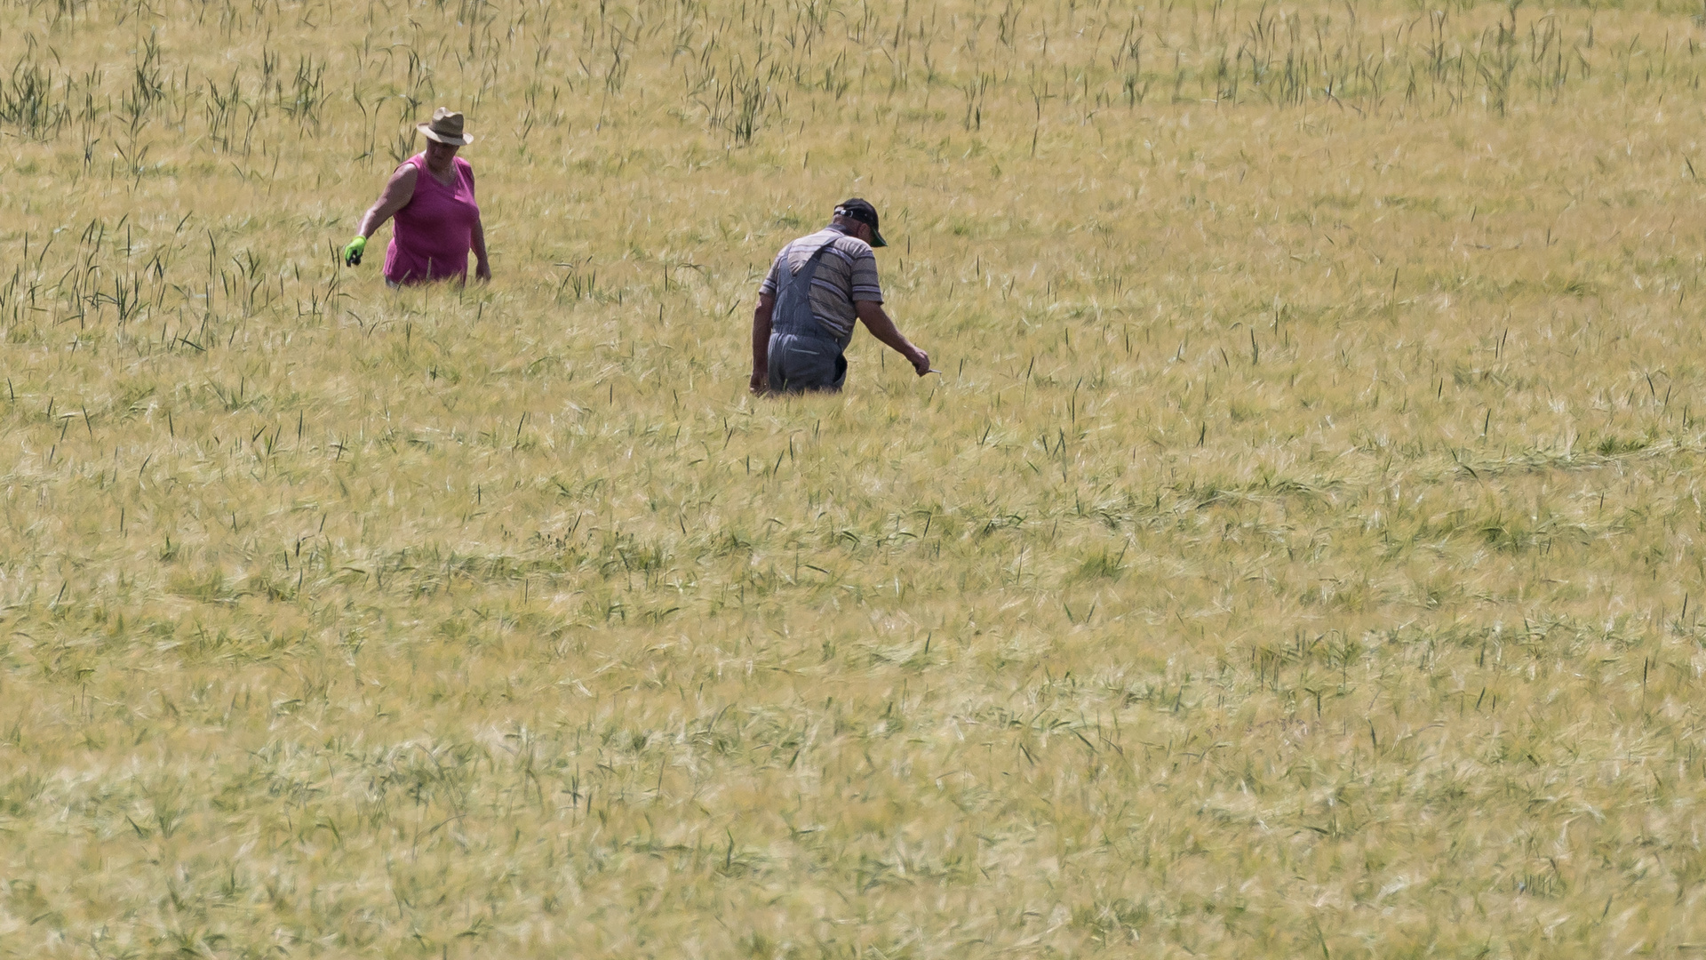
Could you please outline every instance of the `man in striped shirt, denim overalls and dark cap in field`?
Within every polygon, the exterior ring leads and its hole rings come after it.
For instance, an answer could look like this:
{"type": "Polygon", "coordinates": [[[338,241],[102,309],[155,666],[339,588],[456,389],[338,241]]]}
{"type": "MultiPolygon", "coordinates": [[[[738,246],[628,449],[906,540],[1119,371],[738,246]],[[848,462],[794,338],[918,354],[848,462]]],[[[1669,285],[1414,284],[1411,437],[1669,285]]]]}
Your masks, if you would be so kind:
{"type": "Polygon", "coordinates": [[[839,391],[855,319],[918,376],[930,372],[930,354],[882,309],[875,246],[887,246],[877,208],[855,196],[836,207],[827,227],[781,248],[752,311],[752,393],[839,391]]]}

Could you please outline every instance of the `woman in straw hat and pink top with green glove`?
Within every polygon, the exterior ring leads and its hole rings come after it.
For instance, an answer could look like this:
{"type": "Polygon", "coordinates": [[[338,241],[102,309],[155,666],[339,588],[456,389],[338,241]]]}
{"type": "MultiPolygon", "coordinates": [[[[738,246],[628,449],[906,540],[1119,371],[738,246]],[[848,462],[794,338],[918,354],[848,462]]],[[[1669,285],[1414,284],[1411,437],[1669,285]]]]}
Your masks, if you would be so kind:
{"type": "Polygon", "coordinates": [[[456,155],[457,147],[473,140],[462,133],[462,114],[438,108],[432,123],[416,125],[416,130],[426,135],[426,150],[403,161],[391,174],[362,217],[357,237],[343,248],[345,263],[362,263],[367,237],[396,217],[386,248],[386,284],[466,282],[469,249],[476,260],[474,277],[490,280],[486,232],[474,202],[474,167],[456,155]]]}

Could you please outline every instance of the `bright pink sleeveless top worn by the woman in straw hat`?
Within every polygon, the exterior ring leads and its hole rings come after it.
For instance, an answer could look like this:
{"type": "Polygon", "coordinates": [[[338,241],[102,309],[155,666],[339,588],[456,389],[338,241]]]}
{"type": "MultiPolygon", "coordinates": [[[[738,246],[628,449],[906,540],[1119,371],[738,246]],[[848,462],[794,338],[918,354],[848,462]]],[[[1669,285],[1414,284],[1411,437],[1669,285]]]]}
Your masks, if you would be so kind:
{"type": "Polygon", "coordinates": [[[479,220],[474,167],[456,157],[456,186],[445,186],[426,169],[426,154],[415,154],[403,162],[415,164],[418,171],[415,196],[392,219],[386,280],[466,280],[467,251],[474,244],[474,224],[479,220]]]}

